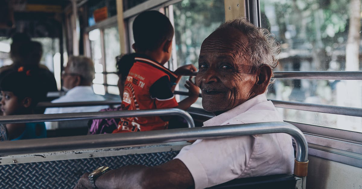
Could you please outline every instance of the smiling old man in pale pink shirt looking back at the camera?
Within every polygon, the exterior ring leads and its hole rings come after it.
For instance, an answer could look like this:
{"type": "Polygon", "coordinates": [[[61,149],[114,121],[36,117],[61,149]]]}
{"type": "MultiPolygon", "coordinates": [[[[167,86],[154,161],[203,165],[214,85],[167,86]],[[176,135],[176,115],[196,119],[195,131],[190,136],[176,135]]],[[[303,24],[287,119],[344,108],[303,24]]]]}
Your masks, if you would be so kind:
{"type": "MultiPolygon", "coordinates": [[[[202,106],[216,116],[204,126],[283,121],[265,91],[278,64],[279,43],[243,18],[227,21],[203,41],[196,83],[202,106]]],[[[241,177],[293,172],[292,139],[285,133],[199,139],[171,161],[131,165],[95,180],[102,188],[207,188],[241,177]]],[[[88,173],[75,188],[92,188],[88,173]]]]}

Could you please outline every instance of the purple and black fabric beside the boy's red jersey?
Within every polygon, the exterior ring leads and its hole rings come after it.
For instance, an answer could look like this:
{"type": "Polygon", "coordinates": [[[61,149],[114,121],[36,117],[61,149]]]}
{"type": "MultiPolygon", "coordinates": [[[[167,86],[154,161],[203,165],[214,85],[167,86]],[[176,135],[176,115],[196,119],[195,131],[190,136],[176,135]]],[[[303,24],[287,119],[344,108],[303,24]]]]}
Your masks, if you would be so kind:
{"type": "MultiPolygon", "coordinates": [[[[121,110],[121,106],[118,106],[117,108],[102,109],[100,112],[121,110]]],[[[91,135],[112,133],[115,129],[117,129],[119,121],[120,118],[93,119],[90,125],[89,133],[91,135]]]]}

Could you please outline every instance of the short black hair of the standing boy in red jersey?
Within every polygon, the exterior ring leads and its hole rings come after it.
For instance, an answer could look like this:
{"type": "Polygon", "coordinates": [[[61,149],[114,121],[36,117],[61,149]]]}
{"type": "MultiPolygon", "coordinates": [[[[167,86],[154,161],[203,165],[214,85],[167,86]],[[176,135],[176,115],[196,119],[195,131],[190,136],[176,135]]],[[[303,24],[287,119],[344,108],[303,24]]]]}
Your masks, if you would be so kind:
{"type": "Polygon", "coordinates": [[[133,22],[135,47],[139,51],[153,51],[165,40],[172,40],[174,30],[170,20],[157,10],[140,13],[133,22]]]}

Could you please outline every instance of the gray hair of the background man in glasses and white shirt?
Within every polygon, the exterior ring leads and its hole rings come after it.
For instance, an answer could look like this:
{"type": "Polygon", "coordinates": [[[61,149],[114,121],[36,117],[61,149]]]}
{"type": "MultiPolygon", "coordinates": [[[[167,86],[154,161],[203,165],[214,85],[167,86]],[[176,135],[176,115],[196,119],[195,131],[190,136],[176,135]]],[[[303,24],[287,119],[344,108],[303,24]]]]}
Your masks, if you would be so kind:
{"type": "Polygon", "coordinates": [[[90,58],[85,56],[71,56],[67,66],[69,67],[69,72],[79,74],[85,82],[92,83],[95,71],[93,61],[90,58]]]}

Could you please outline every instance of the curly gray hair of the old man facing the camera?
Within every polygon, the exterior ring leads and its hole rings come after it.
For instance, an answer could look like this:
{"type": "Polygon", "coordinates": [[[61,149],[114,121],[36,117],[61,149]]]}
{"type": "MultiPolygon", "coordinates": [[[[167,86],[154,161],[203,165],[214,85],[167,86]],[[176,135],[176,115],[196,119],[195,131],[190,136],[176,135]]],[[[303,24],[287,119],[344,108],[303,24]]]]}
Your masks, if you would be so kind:
{"type": "Polygon", "coordinates": [[[258,28],[243,17],[229,20],[216,28],[219,29],[237,29],[247,35],[249,42],[247,53],[256,68],[260,68],[263,64],[270,66],[271,69],[278,66],[276,56],[280,53],[280,43],[267,29],[258,28]]]}

